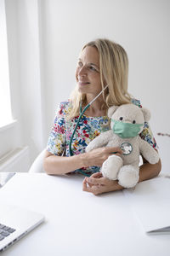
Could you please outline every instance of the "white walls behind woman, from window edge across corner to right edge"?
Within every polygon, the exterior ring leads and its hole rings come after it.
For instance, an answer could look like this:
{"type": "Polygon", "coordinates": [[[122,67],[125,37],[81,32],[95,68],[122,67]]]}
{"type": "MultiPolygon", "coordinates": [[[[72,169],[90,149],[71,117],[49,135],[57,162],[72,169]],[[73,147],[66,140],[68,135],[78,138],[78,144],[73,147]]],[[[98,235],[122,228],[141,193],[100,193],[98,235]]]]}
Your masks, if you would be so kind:
{"type": "Polygon", "coordinates": [[[110,38],[127,50],[129,92],[150,108],[155,134],[170,132],[168,0],[6,3],[8,35],[14,37],[14,46],[10,44],[13,77],[18,73],[11,86],[12,90],[19,87],[13,105],[18,97],[15,112],[20,117],[22,143],[31,148],[31,160],[47,142],[58,103],[74,88],[79,51],[95,38],[110,38]]]}

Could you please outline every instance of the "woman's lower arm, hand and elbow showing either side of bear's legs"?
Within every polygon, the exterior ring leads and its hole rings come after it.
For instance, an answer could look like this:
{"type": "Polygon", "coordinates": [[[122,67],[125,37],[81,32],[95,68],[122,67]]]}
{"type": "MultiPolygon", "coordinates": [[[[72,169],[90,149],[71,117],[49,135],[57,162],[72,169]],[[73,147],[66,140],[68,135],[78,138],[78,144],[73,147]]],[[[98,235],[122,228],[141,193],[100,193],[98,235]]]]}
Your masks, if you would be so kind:
{"type": "MultiPolygon", "coordinates": [[[[144,160],[144,159],[143,159],[144,160]]],[[[155,165],[151,165],[146,160],[139,168],[139,182],[156,177],[161,172],[161,160],[155,165]]],[[[82,190],[93,193],[94,195],[103,194],[124,189],[117,180],[110,180],[103,177],[101,172],[94,173],[91,177],[85,177],[82,183],[82,190]]]]}

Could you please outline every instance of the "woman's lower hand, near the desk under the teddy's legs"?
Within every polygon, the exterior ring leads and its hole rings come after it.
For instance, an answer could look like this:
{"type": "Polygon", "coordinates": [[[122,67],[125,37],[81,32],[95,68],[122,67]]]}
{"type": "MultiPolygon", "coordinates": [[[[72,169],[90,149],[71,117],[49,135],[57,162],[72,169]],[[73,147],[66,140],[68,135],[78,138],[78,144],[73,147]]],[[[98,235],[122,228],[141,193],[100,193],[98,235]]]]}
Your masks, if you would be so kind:
{"type": "Polygon", "coordinates": [[[85,177],[82,183],[82,190],[93,193],[94,195],[121,189],[123,187],[119,185],[117,180],[110,180],[107,177],[103,177],[101,172],[96,172],[91,177],[85,177]]]}

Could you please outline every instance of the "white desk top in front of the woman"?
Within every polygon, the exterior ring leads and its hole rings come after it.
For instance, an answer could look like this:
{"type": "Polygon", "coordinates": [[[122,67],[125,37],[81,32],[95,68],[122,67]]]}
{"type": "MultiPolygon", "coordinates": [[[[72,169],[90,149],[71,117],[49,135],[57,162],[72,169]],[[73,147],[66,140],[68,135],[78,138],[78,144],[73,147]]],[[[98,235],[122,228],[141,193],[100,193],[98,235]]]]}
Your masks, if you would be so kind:
{"type": "Polygon", "coordinates": [[[170,236],[146,235],[122,191],[83,192],[81,176],[18,173],[0,189],[0,201],[46,218],[2,256],[170,255],[170,236]]]}

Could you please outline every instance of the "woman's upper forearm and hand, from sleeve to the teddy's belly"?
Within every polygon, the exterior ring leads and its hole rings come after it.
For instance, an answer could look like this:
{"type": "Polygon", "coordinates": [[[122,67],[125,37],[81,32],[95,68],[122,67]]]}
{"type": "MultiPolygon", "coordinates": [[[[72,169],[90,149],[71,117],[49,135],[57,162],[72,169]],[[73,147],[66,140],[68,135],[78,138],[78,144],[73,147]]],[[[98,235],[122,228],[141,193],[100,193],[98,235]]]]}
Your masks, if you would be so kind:
{"type": "Polygon", "coordinates": [[[122,154],[121,148],[96,148],[90,152],[70,157],[58,156],[46,151],[43,167],[48,174],[65,174],[82,167],[102,166],[103,162],[112,154],[122,154]]]}

